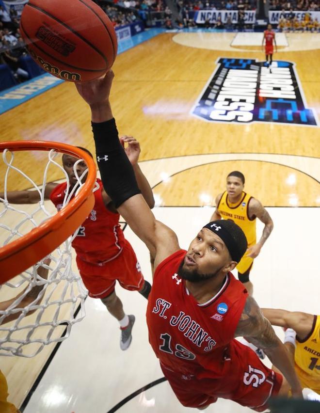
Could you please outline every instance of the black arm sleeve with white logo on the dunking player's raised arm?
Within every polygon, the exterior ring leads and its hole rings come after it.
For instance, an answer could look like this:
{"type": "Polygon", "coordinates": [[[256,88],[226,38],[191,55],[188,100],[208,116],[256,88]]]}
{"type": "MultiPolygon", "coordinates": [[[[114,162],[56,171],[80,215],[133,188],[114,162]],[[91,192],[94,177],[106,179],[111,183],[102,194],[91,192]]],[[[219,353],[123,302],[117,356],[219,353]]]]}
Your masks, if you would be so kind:
{"type": "Polygon", "coordinates": [[[92,122],[96,144],[96,160],[103,188],[118,208],[131,196],[141,193],[132,165],[122,147],[114,118],[92,122]]]}

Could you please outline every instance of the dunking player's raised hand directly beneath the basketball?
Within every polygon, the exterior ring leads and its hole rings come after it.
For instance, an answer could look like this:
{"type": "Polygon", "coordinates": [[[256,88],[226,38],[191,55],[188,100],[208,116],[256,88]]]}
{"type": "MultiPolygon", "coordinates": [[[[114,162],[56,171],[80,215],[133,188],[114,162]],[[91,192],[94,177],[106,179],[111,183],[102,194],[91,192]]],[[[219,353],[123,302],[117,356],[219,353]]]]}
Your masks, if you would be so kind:
{"type": "Polygon", "coordinates": [[[98,106],[109,100],[112,80],[114,73],[109,70],[99,79],[90,80],[88,82],[75,82],[79,95],[90,106],[98,106]]]}

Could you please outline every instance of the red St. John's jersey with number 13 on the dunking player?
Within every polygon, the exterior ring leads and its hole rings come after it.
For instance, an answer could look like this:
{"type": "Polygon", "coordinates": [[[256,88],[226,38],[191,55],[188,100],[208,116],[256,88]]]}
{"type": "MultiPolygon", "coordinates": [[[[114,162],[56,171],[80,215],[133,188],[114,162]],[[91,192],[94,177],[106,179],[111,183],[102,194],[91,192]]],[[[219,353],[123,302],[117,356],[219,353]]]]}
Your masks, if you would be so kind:
{"type": "Polygon", "coordinates": [[[146,312],[149,342],[165,368],[199,379],[220,378],[236,351],[234,334],[248,293],[228,273],[220,291],[199,304],[176,273],[186,253],[177,251],[155,271],[146,312]]]}

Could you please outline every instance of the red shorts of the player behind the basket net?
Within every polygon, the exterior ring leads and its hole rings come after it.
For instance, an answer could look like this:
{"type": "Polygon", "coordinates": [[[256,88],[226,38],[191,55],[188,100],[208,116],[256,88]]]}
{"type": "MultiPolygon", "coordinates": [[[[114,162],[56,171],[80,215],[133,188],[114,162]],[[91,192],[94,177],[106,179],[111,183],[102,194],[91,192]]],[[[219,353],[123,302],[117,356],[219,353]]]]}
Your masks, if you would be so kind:
{"type": "Polygon", "coordinates": [[[108,297],[114,291],[116,280],[130,291],[140,290],[144,284],[136,254],[126,239],[122,253],[103,265],[83,261],[78,256],[76,259],[80,276],[90,297],[108,297]]]}

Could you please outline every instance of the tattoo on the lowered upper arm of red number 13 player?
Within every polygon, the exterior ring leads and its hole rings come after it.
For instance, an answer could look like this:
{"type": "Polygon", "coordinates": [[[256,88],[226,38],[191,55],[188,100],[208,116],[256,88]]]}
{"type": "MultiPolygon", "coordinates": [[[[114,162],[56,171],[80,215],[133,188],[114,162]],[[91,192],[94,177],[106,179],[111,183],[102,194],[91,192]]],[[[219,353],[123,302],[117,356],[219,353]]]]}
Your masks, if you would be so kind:
{"type": "Polygon", "coordinates": [[[247,298],[235,336],[244,336],[266,352],[279,343],[270,322],[263,317],[259,306],[252,297],[247,298]]]}

